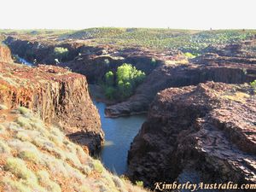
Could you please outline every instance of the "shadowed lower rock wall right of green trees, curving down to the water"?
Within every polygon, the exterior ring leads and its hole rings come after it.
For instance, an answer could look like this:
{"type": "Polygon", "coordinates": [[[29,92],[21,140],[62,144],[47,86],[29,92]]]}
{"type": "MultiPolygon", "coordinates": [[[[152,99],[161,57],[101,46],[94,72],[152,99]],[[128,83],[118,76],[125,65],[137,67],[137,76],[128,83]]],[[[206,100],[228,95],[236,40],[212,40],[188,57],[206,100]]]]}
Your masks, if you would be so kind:
{"type": "Polygon", "coordinates": [[[207,81],[236,84],[252,82],[256,78],[256,61],[247,63],[211,63],[189,64],[185,66],[160,66],[150,73],[147,79],[137,87],[127,101],[109,106],[105,113],[109,117],[131,115],[148,111],[150,102],[160,91],[169,87],[195,85],[207,81]]]}

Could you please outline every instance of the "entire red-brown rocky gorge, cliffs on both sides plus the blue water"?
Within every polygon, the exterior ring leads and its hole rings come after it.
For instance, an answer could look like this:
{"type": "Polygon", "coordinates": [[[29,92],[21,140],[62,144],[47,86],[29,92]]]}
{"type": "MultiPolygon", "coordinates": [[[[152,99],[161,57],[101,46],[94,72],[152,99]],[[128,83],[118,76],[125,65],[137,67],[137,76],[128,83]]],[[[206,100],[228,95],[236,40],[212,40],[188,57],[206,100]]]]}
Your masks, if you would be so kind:
{"type": "Polygon", "coordinates": [[[177,49],[119,49],[74,39],[49,44],[15,36],[5,43],[13,54],[45,65],[1,63],[8,71],[3,84],[12,90],[3,89],[1,102],[40,112],[45,123],[58,122],[90,154],[102,146],[100,157],[110,171],[149,189],[155,182],[256,183],[256,100],[250,84],[256,79],[255,38],[207,46],[195,58],[177,49]],[[55,47],[69,50],[60,63],[55,63],[55,47]],[[86,82],[99,84],[124,62],[147,75],[133,96],[107,106],[91,102],[86,82]],[[23,76],[29,80],[18,80],[23,76]],[[8,79],[40,84],[24,89],[8,79]]]}

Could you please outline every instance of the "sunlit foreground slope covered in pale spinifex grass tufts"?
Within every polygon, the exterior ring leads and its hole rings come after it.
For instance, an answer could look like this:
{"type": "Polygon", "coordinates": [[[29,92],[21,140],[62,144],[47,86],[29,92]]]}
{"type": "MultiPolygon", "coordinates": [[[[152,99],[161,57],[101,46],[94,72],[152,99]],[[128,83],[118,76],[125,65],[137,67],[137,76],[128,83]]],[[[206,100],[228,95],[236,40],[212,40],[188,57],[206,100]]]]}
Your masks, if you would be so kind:
{"type": "Polygon", "coordinates": [[[0,191],[139,192],[54,125],[23,107],[0,109],[0,191]]]}

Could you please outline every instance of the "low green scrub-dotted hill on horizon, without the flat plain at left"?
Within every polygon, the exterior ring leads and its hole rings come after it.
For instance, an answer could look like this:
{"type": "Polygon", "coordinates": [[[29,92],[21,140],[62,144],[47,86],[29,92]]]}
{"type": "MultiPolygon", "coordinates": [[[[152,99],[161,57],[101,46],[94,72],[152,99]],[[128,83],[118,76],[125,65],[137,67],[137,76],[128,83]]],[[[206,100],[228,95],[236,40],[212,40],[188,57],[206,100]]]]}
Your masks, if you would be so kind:
{"type": "Polygon", "coordinates": [[[149,28],[90,28],[61,35],[61,39],[92,39],[94,44],[180,49],[200,53],[209,44],[230,44],[252,38],[256,30],[193,31],[149,28]]]}

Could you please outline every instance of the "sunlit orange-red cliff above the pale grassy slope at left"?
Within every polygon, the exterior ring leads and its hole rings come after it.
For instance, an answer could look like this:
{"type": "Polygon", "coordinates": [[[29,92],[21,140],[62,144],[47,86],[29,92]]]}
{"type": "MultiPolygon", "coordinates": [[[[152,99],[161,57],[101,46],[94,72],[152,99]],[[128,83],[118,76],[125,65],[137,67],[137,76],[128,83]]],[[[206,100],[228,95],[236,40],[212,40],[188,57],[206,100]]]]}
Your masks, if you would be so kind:
{"type": "Polygon", "coordinates": [[[26,67],[0,62],[0,102],[9,108],[24,106],[48,124],[57,124],[93,154],[104,134],[86,79],[61,67],[26,67]]]}

